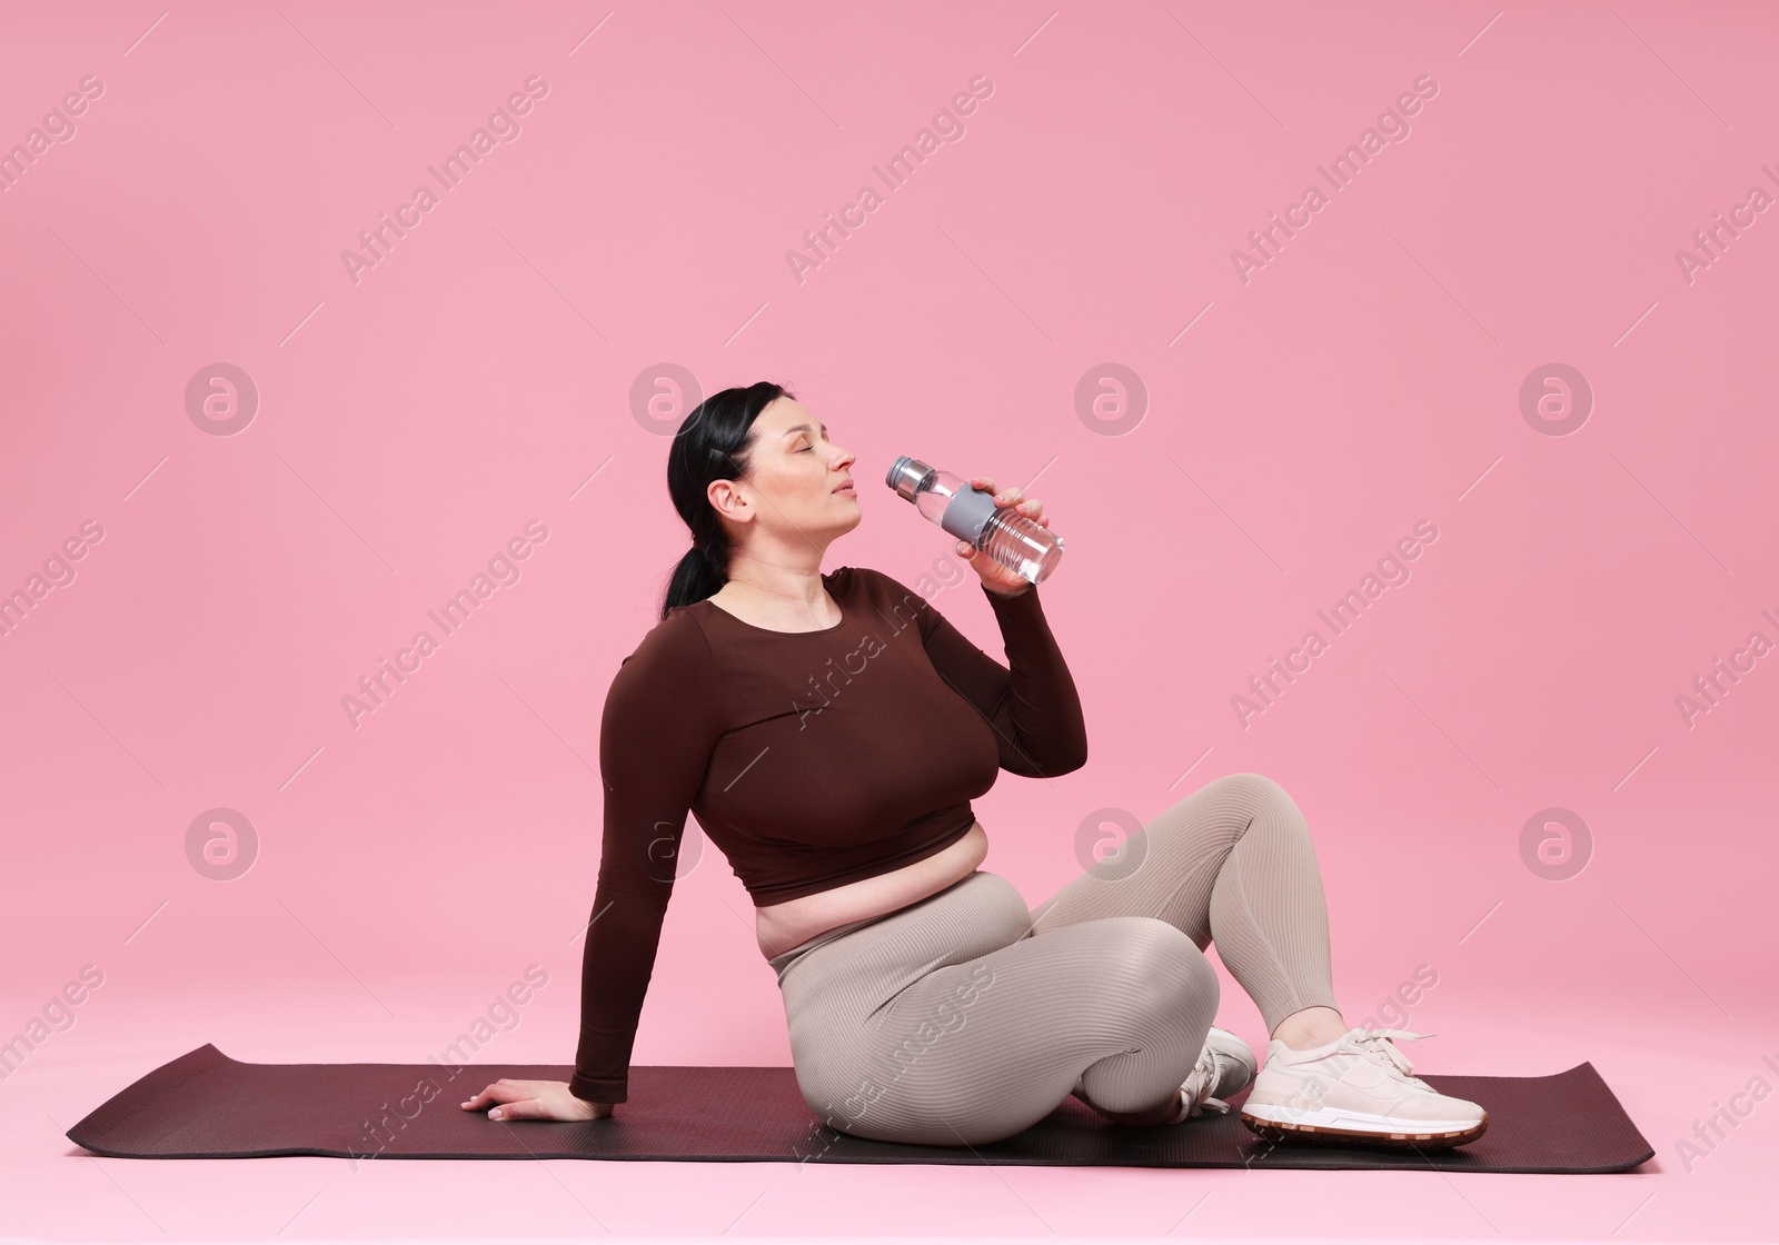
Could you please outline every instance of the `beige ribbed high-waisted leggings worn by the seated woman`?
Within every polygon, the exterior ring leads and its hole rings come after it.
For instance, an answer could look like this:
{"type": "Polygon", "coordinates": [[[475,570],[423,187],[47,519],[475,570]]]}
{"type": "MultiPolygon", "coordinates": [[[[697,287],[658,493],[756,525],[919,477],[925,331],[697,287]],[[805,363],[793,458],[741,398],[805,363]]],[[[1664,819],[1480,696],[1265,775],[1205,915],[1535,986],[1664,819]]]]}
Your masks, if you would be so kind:
{"type": "Polygon", "coordinates": [[[804,1101],[841,1133],[975,1145],[1069,1097],[1149,1112],[1217,1016],[1217,953],[1267,1021],[1334,1007],[1309,827],[1260,774],[1215,779],[1050,900],[977,870],[774,957],[804,1101]]]}

